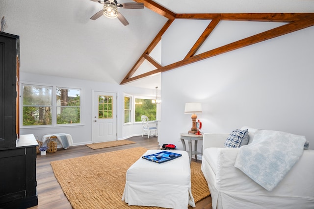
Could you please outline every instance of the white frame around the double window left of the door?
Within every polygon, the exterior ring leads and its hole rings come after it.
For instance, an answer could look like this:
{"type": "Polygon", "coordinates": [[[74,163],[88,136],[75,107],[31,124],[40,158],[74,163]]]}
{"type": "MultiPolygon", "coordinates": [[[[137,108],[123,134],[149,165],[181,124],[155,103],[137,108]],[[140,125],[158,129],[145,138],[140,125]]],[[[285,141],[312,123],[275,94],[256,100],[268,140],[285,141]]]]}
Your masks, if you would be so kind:
{"type": "Polygon", "coordinates": [[[81,87],[74,87],[74,86],[67,86],[64,87],[63,85],[52,85],[52,84],[47,84],[47,83],[35,83],[35,82],[26,82],[26,81],[20,81],[20,128],[21,129],[27,129],[27,128],[48,128],[48,127],[67,127],[67,126],[82,126],[84,125],[84,108],[83,108],[83,88],[81,87]],[[24,95],[23,95],[23,86],[43,86],[43,87],[51,87],[52,88],[52,106],[51,106],[51,115],[52,115],[52,124],[50,125],[23,125],[23,100],[24,100],[24,95]],[[78,89],[80,90],[80,96],[79,96],[79,108],[80,108],[80,123],[70,123],[70,124],[57,124],[57,99],[56,99],[56,89],[57,88],[63,88],[63,89],[78,89]]]}

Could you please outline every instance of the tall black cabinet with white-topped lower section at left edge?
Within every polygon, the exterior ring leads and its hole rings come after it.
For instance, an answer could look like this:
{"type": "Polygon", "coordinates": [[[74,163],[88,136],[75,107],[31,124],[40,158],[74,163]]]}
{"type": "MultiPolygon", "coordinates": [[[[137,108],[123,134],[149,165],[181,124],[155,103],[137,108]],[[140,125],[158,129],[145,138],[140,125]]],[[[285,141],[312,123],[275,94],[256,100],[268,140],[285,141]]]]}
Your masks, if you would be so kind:
{"type": "Polygon", "coordinates": [[[19,136],[19,36],[0,32],[0,208],[38,204],[33,135],[19,136]]]}

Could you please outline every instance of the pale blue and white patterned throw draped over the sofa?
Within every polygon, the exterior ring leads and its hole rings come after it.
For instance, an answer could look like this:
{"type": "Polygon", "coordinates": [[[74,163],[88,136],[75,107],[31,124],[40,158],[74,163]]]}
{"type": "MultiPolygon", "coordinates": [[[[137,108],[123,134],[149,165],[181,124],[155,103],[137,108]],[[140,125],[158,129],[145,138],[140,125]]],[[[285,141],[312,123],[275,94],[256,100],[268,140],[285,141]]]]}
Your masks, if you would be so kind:
{"type": "Polygon", "coordinates": [[[251,144],[239,148],[235,167],[272,191],[302,156],[305,142],[304,136],[258,130],[251,144]]]}

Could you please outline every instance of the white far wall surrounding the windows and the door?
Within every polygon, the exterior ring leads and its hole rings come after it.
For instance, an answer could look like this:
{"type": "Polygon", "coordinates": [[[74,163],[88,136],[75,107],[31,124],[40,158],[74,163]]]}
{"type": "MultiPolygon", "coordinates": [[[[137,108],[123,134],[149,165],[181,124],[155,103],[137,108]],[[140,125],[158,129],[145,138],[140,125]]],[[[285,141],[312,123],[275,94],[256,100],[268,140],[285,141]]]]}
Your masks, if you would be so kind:
{"type": "MultiPolygon", "coordinates": [[[[117,93],[117,139],[127,139],[132,136],[138,136],[142,134],[142,124],[129,124],[123,125],[123,93],[132,95],[152,96],[156,97],[156,90],[142,89],[137,87],[131,87],[129,85],[119,85],[110,83],[92,82],[87,80],[69,79],[63,77],[31,74],[23,72],[23,63],[21,66],[20,83],[35,83],[43,85],[56,85],[69,88],[81,88],[82,89],[82,105],[83,109],[83,125],[70,126],[70,127],[47,127],[47,128],[21,128],[20,134],[34,134],[39,139],[43,135],[48,133],[68,133],[73,138],[74,145],[92,143],[92,125],[93,125],[93,113],[92,113],[92,99],[93,91],[113,92],[117,93]]],[[[21,110],[20,110],[21,111],[21,110]]]]}

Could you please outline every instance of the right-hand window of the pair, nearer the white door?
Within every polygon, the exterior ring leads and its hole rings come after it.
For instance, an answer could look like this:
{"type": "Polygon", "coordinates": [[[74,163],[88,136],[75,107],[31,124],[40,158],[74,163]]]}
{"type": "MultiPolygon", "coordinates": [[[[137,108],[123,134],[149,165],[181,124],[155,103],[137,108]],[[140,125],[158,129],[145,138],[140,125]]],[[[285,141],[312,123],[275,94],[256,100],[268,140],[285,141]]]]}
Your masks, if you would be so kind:
{"type": "Polygon", "coordinates": [[[80,123],[80,89],[56,88],[57,124],[80,123]]]}

